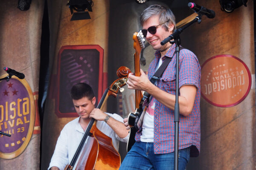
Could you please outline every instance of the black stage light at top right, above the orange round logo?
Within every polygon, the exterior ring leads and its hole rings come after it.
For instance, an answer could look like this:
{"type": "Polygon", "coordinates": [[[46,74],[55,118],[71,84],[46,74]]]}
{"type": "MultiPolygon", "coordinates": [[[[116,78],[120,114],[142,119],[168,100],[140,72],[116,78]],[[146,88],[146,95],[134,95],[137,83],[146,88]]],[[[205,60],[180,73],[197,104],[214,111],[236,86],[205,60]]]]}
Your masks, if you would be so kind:
{"type": "Polygon", "coordinates": [[[244,5],[247,6],[247,0],[219,0],[221,4],[221,10],[227,13],[233,12],[234,9],[244,5]]]}

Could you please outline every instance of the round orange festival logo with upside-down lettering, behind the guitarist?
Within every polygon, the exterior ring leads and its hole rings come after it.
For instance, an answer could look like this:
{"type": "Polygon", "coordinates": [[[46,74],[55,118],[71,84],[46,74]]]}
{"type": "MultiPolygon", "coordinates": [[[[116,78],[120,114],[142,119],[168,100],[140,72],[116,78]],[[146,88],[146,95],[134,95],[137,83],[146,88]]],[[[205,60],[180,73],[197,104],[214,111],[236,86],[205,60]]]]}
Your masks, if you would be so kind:
{"type": "Polygon", "coordinates": [[[249,93],[251,82],[247,65],[232,55],[211,57],[201,67],[201,95],[215,106],[239,104],[249,93]]]}

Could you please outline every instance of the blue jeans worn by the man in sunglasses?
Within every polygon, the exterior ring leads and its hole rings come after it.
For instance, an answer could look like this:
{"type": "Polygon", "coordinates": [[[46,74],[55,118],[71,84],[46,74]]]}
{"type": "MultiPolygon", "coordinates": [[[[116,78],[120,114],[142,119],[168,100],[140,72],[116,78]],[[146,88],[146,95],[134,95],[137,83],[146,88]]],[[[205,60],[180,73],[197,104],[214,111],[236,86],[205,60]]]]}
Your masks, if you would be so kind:
{"type": "MultiPolygon", "coordinates": [[[[135,142],[119,170],[174,170],[174,152],[154,154],[154,143],[135,142]]],[[[185,170],[190,147],[179,150],[178,169],[185,170]]]]}

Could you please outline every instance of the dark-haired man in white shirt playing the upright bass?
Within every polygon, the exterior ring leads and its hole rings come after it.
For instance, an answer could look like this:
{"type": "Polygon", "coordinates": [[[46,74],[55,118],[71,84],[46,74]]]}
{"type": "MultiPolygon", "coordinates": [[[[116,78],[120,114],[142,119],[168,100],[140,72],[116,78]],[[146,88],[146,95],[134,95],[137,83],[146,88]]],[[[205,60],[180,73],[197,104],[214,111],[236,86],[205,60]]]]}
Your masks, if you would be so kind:
{"type": "MultiPolygon", "coordinates": [[[[95,108],[96,97],[90,85],[79,83],[72,87],[71,98],[79,117],[67,123],[58,138],[48,170],[64,170],[73,158],[91,118],[98,120],[96,126],[112,138],[116,150],[119,141],[127,142],[128,130],[117,114],[104,113],[95,108]]],[[[73,170],[76,169],[76,165],[73,170]]]]}

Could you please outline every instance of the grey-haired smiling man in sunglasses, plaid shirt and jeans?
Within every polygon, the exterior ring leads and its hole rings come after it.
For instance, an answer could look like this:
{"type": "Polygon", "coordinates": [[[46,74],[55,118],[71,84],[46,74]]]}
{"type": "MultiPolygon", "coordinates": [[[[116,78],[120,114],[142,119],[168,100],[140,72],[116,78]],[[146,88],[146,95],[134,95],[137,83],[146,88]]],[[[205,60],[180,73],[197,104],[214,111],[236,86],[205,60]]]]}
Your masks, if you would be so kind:
{"type": "MultiPolygon", "coordinates": [[[[129,74],[128,88],[151,94],[143,125],[137,131],[135,144],[125,156],[119,170],[173,170],[175,145],[175,44],[160,42],[175,29],[175,16],[169,8],[152,5],[140,16],[143,35],[156,50],[148,68],[148,76],[129,74]],[[152,84],[149,79],[167,57],[172,60],[162,77],[152,84]]],[[[179,153],[178,169],[184,170],[190,156],[200,151],[200,79],[201,67],[197,57],[187,49],[179,56],[179,153]]],[[[127,118],[124,119],[128,127],[127,118]]]]}

